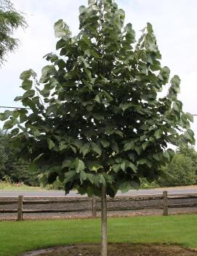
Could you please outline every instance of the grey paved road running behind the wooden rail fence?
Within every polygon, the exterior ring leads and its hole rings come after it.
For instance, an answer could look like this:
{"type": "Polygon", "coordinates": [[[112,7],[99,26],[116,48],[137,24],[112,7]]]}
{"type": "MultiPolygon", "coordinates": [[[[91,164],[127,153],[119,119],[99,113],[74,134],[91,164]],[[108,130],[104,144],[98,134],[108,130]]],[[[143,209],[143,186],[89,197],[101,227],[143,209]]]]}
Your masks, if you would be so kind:
{"type": "MultiPolygon", "coordinates": [[[[118,195],[153,195],[153,194],[162,194],[164,188],[158,188],[158,189],[152,189],[152,190],[129,190],[127,193],[121,193],[119,192],[118,195]]],[[[197,186],[196,187],[187,187],[187,188],[168,188],[165,189],[168,191],[169,194],[192,194],[197,193],[197,186]]],[[[0,190],[0,197],[3,196],[18,196],[18,195],[24,195],[24,196],[65,196],[65,193],[60,190],[47,190],[47,191],[4,191],[0,190]]],[[[74,191],[71,191],[67,196],[80,196],[74,191]]]]}

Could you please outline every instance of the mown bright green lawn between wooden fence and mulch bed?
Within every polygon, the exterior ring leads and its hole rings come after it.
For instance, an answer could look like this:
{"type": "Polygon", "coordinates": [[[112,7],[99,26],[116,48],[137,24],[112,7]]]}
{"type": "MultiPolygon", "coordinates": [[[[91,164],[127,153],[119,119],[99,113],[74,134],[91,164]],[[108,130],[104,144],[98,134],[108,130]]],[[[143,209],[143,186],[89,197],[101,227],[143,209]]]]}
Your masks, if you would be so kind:
{"type": "MultiPolygon", "coordinates": [[[[109,218],[110,242],[182,244],[197,248],[197,215],[109,218]]],[[[100,219],[0,222],[0,255],[100,241],[100,219]]]]}

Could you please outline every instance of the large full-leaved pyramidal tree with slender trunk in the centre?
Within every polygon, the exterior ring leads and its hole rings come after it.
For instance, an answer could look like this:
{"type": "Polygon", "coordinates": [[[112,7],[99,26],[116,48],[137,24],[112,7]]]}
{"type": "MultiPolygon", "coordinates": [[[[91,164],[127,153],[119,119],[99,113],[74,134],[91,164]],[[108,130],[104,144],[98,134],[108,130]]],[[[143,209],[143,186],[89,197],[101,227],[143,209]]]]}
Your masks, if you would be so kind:
{"type": "Polygon", "coordinates": [[[30,168],[41,166],[42,181],[65,184],[65,193],[98,195],[102,201],[102,256],[107,255],[106,195],[113,197],[153,181],[171,160],[168,144],[193,143],[192,116],[177,100],[180,78],[161,67],[150,23],[136,42],[132,24],[113,0],[89,0],[79,8],[80,33],[71,36],[63,20],[55,23],[56,49],[39,82],[31,69],[20,75],[31,109],[1,114],[12,129],[12,144],[30,168]],[[39,96],[40,95],[40,96],[39,96]],[[17,125],[17,128],[14,126],[17,125]]]}

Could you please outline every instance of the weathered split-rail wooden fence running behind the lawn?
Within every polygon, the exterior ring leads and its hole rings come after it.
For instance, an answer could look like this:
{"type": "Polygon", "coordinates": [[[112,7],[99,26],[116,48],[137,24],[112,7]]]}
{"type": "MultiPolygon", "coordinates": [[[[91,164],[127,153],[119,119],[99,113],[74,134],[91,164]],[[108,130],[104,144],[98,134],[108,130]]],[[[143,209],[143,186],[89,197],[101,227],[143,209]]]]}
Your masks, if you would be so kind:
{"type": "MultiPolygon", "coordinates": [[[[134,211],[140,209],[163,209],[163,215],[167,216],[169,212],[169,208],[184,208],[184,207],[196,207],[196,203],[169,203],[172,199],[176,200],[184,200],[184,199],[193,199],[197,198],[196,194],[185,194],[185,195],[168,195],[167,191],[163,192],[163,195],[117,195],[115,198],[108,198],[108,203],[113,202],[139,202],[139,201],[154,201],[160,199],[161,203],[154,205],[136,205],[136,206],[126,206],[126,207],[118,207],[111,206],[108,207],[108,211],[134,211]]],[[[31,200],[31,198],[24,199],[23,195],[19,195],[15,200],[4,200],[0,201],[1,205],[12,205],[17,204],[17,209],[0,209],[0,213],[17,213],[17,220],[23,220],[23,214],[36,214],[36,213],[56,213],[56,212],[87,212],[92,211],[92,217],[97,217],[97,212],[100,211],[100,207],[97,206],[97,203],[100,203],[100,198],[96,198],[93,196],[92,198],[87,197],[63,197],[63,201],[59,201],[60,199],[49,199],[47,200],[31,200]],[[24,209],[24,205],[47,205],[53,203],[91,203],[91,207],[86,207],[83,209],[24,209]]],[[[113,205],[113,204],[112,204],[113,205]]]]}

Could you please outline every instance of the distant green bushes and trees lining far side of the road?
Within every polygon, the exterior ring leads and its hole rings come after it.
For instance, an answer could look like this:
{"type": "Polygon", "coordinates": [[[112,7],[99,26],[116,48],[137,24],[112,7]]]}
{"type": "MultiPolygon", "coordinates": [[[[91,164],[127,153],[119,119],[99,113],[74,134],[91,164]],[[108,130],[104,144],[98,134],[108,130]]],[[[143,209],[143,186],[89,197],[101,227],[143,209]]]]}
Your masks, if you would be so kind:
{"type": "MultiPolygon", "coordinates": [[[[9,136],[0,133],[0,180],[8,177],[12,182],[23,182],[25,185],[39,185],[38,174],[41,170],[32,173],[28,170],[28,163],[17,157],[17,150],[9,147],[9,136]]],[[[172,161],[162,167],[163,177],[158,181],[148,182],[140,179],[141,188],[169,187],[197,184],[197,152],[193,147],[180,147],[174,154],[172,161]]],[[[64,182],[56,181],[48,185],[48,189],[64,189],[64,182]]]]}

